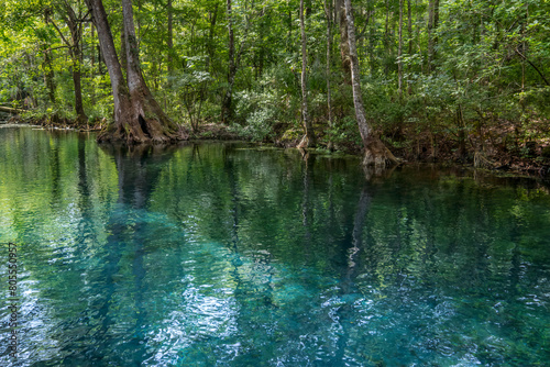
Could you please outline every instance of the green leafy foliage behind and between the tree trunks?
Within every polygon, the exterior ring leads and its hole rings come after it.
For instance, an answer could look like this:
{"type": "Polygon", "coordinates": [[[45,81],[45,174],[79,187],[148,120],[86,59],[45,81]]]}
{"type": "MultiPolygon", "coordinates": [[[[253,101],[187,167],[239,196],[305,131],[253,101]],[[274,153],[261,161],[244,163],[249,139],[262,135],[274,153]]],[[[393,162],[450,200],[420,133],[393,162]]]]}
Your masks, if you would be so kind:
{"type": "MultiPolygon", "coordinates": [[[[120,3],[103,3],[120,55],[120,3]]],[[[275,141],[300,126],[299,1],[233,1],[231,16],[227,3],[173,0],[167,7],[165,1],[135,1],[144,77],[179,123],[196,130],[200,123],[219,122],[229,96],[233,130],[252,140],[275,141]],[[228,77],[230,22],[234,80],[228,77]]],[[[67,4],[82,9],[81,0],[67,4]]],[[[323,2],[306,1],[309,111],[322,144],[328,144],[329,135],[354,144],[356,126],[336,4],[328,1],[327,24],[323,2]],[[332,126],[327,107],[327,25],[332,34],[328,76],[332,126]]],[[[395,147],[410,149],[413,142],[428,134],[477,151],[484,146],[477,137],[486,140],[487,132],[508,124],[517,146],[549,137],[544,127],[550,115],[548,1],[355,0],[353,4],[367,115],[395,147]],[[436,2],[438,9],[432,7],[436,2]]],[[[1,16],[0,102],[73,115],[66,8],[47,0],[9,0],[1,16]]],[[[81,57],[75,65],[81,71],[84,107],[92,119],[110,119],[112,98],[97,32],[89,16],[78,21],[81,57]]]]}

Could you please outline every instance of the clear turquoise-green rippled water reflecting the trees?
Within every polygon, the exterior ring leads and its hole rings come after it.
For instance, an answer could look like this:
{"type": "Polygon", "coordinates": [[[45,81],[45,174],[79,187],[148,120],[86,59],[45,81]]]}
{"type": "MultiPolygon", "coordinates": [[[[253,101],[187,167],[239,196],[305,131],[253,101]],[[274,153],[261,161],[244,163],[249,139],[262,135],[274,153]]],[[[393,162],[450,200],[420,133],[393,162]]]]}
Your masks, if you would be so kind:
{"type": "Polygon", "coordinates": [[[532,181],[0,129],[0,365],[548,366],[549,224],[532,181]]]}

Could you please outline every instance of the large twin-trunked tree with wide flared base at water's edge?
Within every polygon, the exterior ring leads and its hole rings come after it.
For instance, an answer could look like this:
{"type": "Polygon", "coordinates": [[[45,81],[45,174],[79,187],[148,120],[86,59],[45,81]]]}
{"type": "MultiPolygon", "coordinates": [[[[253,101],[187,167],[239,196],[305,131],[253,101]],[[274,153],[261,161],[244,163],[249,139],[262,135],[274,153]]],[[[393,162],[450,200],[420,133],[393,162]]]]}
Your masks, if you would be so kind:
{"type": "Polygon", "coordinates": [[[122,0],[127,82],[122,75],[102,1],[86,0],[86,2],[94,14],[99,45],[111,77],[114,100],[114,124],[99,134],[98,141],[139,144],[166,143],[179,138],[178,126],[161,109],[143,79],[131,0],[122,0]]]}

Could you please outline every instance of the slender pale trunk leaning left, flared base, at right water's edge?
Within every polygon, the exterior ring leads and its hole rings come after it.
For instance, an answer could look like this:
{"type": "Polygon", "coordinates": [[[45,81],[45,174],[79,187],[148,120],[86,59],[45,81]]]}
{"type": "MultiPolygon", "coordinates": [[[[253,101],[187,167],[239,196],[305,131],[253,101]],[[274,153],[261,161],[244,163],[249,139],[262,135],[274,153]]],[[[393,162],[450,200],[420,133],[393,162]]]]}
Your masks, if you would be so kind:
{"type": "Polygon", "coordinates": [[[358,48],[355,44],[355,26],[353,24],[353,12],[351,0],[344,0],[345,19],[348,22],[348,41],[350,44],[350,62],[351,62],[351,80],[353,89],[353,105],[355,107],[355,119],[358,120],[359,132],[365,147],[364,165],[375,165],[386,167],[397,164],[397,159],[389,152],[384,143],[376,137],[369,122],[366,121],[366,112],[361,97],[361,76],[359,74],[358,48]]]}

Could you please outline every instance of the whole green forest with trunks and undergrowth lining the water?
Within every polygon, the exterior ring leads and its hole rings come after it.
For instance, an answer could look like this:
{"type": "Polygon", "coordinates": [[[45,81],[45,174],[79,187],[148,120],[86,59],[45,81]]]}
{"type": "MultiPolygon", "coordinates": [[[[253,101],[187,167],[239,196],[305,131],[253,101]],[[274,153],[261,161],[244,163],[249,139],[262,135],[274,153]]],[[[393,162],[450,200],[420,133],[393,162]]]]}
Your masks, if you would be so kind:
{"type": "Polygon", "coordinates": [[[6,0],[0,111],[106,141],[244,138],[542,175],[549,14],[548,0],[6,0]]]}

